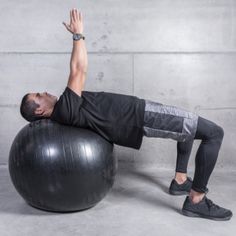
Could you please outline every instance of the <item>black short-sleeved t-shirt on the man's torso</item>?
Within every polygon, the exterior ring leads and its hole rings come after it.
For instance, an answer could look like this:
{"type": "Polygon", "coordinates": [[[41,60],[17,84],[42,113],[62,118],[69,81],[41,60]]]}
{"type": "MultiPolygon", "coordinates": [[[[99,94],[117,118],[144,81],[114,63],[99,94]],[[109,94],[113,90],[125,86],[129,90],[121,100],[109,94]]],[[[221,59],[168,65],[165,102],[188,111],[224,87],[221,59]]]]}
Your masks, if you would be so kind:
{"type": "Polygon", "coordinates": [[[139,149],[143,139],[145,100],[108,92],[66,87],[51,119],[66,125],[91,129],[117,145],[139,149]]]}

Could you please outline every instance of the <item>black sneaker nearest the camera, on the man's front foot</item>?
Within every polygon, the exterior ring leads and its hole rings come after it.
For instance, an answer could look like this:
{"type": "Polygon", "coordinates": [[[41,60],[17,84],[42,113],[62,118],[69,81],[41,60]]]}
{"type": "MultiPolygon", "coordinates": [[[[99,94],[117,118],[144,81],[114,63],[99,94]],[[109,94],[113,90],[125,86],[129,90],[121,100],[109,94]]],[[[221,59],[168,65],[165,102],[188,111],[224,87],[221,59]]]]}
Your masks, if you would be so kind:
{"type": "Polygon", "coordinates": [[[196,204],[192,203],[190,197],[187,196],[183,204],[182,212],[186,216],[211,220],[229,220],[233,215],[230,210],[214,204],[206,196],[196,204]]]}

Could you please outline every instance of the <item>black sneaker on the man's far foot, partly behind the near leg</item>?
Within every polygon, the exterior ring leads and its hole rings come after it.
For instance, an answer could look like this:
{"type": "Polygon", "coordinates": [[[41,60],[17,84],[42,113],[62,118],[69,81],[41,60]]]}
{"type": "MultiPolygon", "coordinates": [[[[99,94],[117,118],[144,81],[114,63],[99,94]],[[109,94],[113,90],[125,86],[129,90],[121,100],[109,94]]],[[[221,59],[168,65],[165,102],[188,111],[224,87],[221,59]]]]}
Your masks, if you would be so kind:
{"type": "Polygon", "coordinates": [[[186,195],[189,194],[191,187],[192,187],[192,179],[187,177],[184,183],[178,184],[175,179],[171,181],[169,187],[169,193],[171,195],[186,195]]]}

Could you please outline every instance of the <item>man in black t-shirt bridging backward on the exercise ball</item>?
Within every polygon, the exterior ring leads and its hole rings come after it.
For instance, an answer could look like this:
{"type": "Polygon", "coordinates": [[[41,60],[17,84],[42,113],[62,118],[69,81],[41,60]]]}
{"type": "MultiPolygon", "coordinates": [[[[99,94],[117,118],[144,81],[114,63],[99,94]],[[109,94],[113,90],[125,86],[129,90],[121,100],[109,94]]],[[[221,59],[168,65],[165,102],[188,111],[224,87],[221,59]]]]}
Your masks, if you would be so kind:
{"type": "Polygon", "coordinates": [[[50,118],[62,124],[92,129],[117,145],[135,149],[140,148],[143,135],[178,141],[176,175],[169,192],[189,194],[183,204],[183,214],[229,220],[232,212],[206,197],[207,183],[223,140],[223,129],[195,113],[174,106],[136,96],[83,91],[88,59],[81,12],[71,10],[70,24],[63,24],[74,39],[67,87],[59,99],[46,92],[26,94],[20,107],[22,116],[28,121],[50,118]],[[194,139],[202,142],[196,154],[192,181],[187,176],[187,164],[194,139]]]}

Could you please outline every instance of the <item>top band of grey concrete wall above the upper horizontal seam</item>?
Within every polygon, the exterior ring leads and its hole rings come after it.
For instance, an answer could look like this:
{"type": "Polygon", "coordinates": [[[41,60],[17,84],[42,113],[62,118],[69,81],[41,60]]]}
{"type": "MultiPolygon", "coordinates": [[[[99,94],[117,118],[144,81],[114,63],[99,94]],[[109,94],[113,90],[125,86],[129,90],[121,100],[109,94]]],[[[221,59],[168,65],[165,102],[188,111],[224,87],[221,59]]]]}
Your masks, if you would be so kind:
{"type": "Polygon", "coordinates": [[[71,7],[84,12],[90,51],[236,50],[233,0],[2,0],[0,51],[67,51],[71,7]]]}

